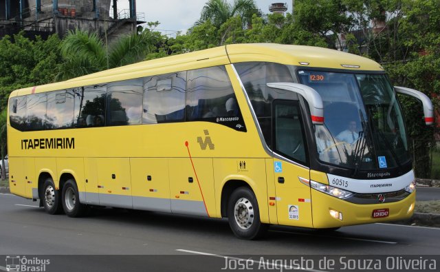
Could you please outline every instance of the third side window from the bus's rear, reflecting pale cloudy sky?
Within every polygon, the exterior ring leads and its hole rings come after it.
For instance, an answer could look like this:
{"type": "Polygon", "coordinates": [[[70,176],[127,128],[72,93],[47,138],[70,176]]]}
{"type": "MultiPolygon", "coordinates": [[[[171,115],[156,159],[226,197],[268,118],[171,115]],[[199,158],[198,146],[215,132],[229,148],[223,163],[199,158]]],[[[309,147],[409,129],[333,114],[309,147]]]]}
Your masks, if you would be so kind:
{"type": "Polygon", "coordinates": [[[61,129],[73,126],[74,92],[57,91],[47,94],[47,129],[61,129]]]}

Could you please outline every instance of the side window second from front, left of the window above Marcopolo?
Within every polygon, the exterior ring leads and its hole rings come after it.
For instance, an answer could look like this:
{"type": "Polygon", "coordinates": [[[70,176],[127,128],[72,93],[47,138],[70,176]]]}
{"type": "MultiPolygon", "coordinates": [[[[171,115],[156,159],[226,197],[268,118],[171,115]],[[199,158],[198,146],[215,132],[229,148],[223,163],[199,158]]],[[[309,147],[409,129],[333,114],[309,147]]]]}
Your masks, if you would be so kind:
{"type": "Polygon", "coordinates": [[[185,90],[186,72],[146,77],[142,123],[183,121],[185,90]]]}

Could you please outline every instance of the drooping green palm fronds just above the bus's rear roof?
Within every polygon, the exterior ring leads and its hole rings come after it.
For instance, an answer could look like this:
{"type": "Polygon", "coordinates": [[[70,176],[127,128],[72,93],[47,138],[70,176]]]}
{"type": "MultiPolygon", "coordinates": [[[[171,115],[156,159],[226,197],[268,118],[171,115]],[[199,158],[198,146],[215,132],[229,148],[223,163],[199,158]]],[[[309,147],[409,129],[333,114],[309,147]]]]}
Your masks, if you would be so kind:
{"type": "Polygon", "coordinates": [[[56,78],[67,80],[142,61],[157,43],[157,35],[152,33],[146,29],[141,34],[124,36],[107,49],[96,32],[70,30],[61,41],[63,63],[56,78]]]}

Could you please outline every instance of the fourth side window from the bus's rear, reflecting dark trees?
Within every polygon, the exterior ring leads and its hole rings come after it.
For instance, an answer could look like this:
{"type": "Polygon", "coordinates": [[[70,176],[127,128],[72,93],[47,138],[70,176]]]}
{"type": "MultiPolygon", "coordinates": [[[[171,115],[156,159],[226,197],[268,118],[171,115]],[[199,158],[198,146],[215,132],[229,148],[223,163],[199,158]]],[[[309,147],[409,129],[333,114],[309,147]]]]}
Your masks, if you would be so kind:
{"type": "Polygon", "coordinates": [[[74,90],[76,127],[101,127],[104,125],[106,90],[105,84],[80,87],[74,90]]]}

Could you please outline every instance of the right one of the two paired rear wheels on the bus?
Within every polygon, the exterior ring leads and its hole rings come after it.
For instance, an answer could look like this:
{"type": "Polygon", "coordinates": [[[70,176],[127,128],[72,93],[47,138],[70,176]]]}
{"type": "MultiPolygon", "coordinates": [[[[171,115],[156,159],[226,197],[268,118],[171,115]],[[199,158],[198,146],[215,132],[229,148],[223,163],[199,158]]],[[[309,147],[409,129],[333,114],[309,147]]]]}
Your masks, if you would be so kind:
{"type": "Polygon", "coordinates": [[[74,179],[69,179],[63,186],[63,209],[69,217],[84,216],[86,206],[80,203],[80,194],[74,179]]]}

